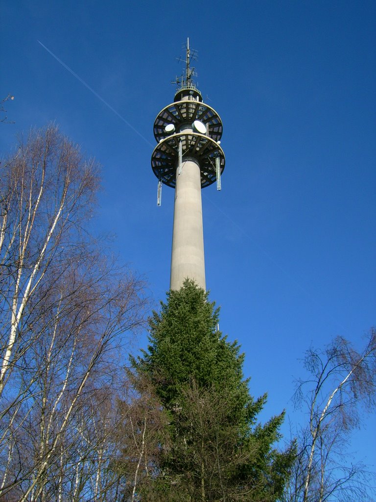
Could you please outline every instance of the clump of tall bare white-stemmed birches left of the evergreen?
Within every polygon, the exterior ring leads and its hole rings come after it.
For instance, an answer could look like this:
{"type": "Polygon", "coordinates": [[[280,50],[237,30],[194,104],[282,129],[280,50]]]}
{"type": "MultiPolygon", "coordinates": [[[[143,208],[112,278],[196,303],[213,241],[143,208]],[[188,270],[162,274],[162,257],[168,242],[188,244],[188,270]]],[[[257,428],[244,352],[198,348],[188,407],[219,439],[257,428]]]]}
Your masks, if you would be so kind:
{"type": "Polygon", "coordinates": [[[116,354],[144,299],[142,282],[83,230],[98,181],[97,165],[54,126],[3,163],[1,500],[105,496],[116,354]]]}

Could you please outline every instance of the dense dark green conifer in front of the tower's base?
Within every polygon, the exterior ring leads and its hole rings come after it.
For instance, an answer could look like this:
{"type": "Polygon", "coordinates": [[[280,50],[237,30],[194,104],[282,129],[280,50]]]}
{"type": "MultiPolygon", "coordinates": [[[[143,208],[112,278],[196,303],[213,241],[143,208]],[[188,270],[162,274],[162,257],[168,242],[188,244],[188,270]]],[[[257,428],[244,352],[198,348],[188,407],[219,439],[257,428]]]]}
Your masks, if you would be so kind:
{"type": "Polygon", "coordinates": [[[272,502],[288,478],[294,448],[275,449],[283,414],[257,423],[266,395],[250,396],[244,354],[218,321],[208,293],[186,280],[153,313],[148,349],[133,360],[170,422],[149,499],[152,492],[177,502],[272,502]]]}

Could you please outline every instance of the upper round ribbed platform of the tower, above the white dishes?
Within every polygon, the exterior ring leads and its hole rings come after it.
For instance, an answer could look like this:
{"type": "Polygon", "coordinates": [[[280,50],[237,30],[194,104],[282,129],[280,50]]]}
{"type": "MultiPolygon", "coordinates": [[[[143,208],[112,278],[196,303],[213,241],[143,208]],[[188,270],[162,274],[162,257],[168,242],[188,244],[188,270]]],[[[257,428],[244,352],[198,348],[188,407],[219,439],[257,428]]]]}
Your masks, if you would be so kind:
{"type": "Polygon", "coordinates": [[[176,131],[182,124],[200,120],[207,126],[209,137],[219,141],[222,137],[222,120],[216,110],[200,101],[177,101],[163,108],[154,122],[154,137],[160,141],[166,137],[164,128],[174,124],[176,131]]]}

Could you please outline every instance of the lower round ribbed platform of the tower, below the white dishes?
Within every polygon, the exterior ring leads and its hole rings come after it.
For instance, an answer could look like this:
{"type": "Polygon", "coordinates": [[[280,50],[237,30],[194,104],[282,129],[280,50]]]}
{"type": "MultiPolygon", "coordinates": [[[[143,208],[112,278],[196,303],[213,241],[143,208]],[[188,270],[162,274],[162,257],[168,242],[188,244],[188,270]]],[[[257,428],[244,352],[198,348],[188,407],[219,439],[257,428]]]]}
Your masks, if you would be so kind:
{"type": "MultiPolygon", "coordinates": [[[[217,180],[216,157],[219,157],[221,174],[225,169],[225,154],[211,138],[198,133],[178,133],[168,136],[154,149],[151,167],[162,183],[174,187],[181,140],[182,161],[184,157],[194,157],[200,164],[201,187],[205,188],[217,180]]],[[[218,161],[217,161],[218,163],[218,161]]]]}

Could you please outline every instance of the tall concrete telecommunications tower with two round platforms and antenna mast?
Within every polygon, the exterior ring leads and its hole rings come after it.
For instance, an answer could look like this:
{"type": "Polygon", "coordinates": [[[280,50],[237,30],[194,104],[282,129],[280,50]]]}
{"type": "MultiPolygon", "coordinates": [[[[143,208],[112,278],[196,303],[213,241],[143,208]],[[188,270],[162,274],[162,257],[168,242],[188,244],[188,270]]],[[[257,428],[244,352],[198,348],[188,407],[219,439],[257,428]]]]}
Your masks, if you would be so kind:
{"type": "Polygon", "coordinates": [[[165,106],[154,122],[157,141],[151,167],[158,178],[157,205],[161,203],[162,184],[175,189],[173,214],[170,289],[180,289],[184,279],[205,285],[204,232],[201,189],[217,183],[225,154],[220,147],[222,120],[203,102],[193,77],[191,60],[197,52],[186,44],[185,72],[177,77],[173,103],[165,106]]]}

